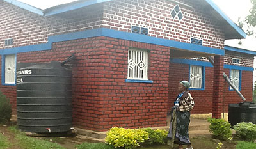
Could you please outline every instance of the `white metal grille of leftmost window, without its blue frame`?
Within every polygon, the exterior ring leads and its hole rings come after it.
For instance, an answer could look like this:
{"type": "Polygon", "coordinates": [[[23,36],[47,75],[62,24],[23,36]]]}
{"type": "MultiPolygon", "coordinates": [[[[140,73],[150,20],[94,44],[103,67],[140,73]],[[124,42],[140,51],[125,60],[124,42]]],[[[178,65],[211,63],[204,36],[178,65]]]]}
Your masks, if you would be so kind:
{"type": "Polygon", "coordinates": [[[15,84],[16,56],[5,56],[5,84],[15,84]]]}

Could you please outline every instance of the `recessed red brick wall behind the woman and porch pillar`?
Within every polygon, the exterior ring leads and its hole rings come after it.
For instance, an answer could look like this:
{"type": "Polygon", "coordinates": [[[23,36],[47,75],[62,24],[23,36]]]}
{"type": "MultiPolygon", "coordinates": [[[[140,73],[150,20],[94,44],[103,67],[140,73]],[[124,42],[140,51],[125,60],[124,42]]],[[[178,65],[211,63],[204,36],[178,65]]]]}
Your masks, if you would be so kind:
{"type": "MultiPolygon", "coordinates": [[[[229,76],[229,69],[225,69],[225,73],[229,76]]],[[[170,85],[168,93],[168,111],[173,106],[177,97],[177,85],[179,81],[189,79],[189,65],[170,63],[170,85]]],[[[242,71],[241,93],[246,98],[246,101],[252,101],[252,85],[253,72],[242,71]]],[[[212,90],[213,90],[213,67],[205,67],[205,90],[191,90],[190,93],[195,100],[195,108],[191,111],[192,114],[211,113],[212,112],[212,90]]],[[[222,91],[225,104],[225,112],[228,112],[228,104],[243,102],[237,95],[236,91],[230,91],[226,82],[225,90],[222,91]]]]}

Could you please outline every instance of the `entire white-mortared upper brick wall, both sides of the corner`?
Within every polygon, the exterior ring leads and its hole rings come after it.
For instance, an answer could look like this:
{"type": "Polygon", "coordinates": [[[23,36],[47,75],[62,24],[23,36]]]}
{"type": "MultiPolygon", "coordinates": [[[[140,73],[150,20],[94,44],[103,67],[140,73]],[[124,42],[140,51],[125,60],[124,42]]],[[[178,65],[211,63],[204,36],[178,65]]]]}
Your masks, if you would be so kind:
{"type": "Polygon", "coordinates": [[[165,0],[114,0],[46,17],[0,1],[0,49],[46,43],[51,35],[100,27],[131,32],[131,26],[148,28],[148,36],[186,43],[191,37],[200,38],[204,46],[223,49],[224,35],[218,21],[204,12],[200,3],[181,2],[193,6],[180,5],[182,20],[170,15],[177,3],[165,0]],[[4,46],[8,38],[13,38],[13,45],[4,46]]]}

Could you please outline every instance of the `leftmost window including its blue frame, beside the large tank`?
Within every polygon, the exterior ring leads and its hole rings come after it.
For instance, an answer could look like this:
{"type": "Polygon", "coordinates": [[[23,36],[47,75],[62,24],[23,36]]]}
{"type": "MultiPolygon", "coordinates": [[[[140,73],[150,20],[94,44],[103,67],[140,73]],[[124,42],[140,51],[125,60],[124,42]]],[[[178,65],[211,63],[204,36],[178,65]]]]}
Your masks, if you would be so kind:
{"type": "Polygon", "coordinates": [[[16,85],[16,61],[16,54],[2,56],[2,85],[16,85]]]}

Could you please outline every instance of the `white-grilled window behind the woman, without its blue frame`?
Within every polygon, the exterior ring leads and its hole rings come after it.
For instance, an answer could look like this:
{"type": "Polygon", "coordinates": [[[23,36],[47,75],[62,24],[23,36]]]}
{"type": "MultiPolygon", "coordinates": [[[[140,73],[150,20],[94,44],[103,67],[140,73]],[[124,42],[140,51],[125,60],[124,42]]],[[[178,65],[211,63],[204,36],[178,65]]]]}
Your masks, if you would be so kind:
{"type": "Polygon", "coordinates": [[[203,67],[190,66],[190,88],[202,88],[203,67]]]}

